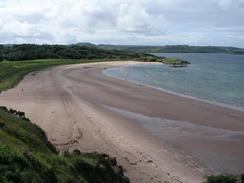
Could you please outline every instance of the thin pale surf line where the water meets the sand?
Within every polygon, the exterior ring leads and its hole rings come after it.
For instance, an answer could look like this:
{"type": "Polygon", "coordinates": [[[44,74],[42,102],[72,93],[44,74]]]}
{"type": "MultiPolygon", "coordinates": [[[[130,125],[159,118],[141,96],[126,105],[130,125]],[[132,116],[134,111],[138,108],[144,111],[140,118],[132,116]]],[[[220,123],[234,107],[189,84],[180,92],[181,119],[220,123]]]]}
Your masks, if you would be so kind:
{"type": "MultiPolygon", "coordinates": [[[[133,65],[136,65],[136,64],[160,64],[161,65],[162,63],[141,63],[141,62],[139,62],[139,63],[135,63],[133,65]]],[[[126,66],[122,66],[122,67],[126,67],[126,66]]],[[[109,68],[109,69],[113,69],[113,68],[109,68]]],[[[106,70],[109,70],[109,69],[106,69],[106,70]]],[[[202,98],[199,98],[199,97],[194,97],[194,96],[191,96],[191,95],[185,95],[185,94],[173,92],[173,91],[170,91],[170,90],[167,90],[167,89],[164,89],[164,88],[147,85],[147,84],[136,82],[136,81],[133,81],[133,80],[123,79],[123,78],[120,78],[120,77],[117,77],[117,76],[113,76],[112,74],[105,73],[106,70],[102,71],[102,73],[104,75],[112,77],[112,78],[115,78],[115,79],[118,79],[118,80],[121,80],[121,81],[129,81],[129,82],[134,83],[134,84],[138,84],[138,85],[142,85],[142,86],[145,86],[145,87],[157,89],[157,90],[160,90],[160,91],[172,94],[172,95],[176,95],[176,96],[179,96],[179,97],[185,97],[187,99],[192,99],[192,100],[196,100],[196,101],[199,101],[199,102],[206,102],[208,104],[216,105],[218,107],[224,107],[224,108],[227,108],[227,109],[244,112],[244,107],[234,106],[234,105],[231,105],[231,104],[225,104],[225,103],[221,103],[221,102],[217,102],[217,101],[211,101],[211,100],[208,100],[208,99],[202,99],[202,98]]]]}

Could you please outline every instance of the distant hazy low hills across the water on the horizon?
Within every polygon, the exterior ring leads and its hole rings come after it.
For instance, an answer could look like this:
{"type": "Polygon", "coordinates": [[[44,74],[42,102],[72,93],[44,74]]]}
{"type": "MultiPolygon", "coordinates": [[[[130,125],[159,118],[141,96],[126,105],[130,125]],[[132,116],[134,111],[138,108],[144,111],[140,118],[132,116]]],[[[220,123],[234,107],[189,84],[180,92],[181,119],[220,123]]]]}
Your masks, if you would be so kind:
{"type": "Polygon", "coordinates": [[[106,45],[97,47],[107,50],[120,50],[138,53],[230,53],[244,54],[244,48],[222,47],[222,46],[188,46],[188,45],[166,45],[166,46],[136,46],[136,45],[106,45]]]}

